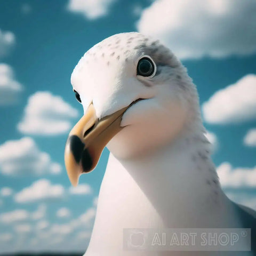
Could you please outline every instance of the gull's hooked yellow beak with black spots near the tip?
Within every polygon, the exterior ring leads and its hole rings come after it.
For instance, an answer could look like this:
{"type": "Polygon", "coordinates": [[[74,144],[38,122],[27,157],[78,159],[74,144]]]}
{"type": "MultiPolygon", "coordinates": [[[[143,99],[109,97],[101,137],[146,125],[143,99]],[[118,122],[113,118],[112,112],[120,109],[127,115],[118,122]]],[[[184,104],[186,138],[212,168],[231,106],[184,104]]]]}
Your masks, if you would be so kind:
{"type": "Polygon", "coordinates": [[[120,123],[129,107],[99,120],[91,103],[85,115],[70,131],[65,148],[65,165],[73,186],[77,186],[82,173],[90,172],[95,168],[104,147],[123,129],[120,123]]]}

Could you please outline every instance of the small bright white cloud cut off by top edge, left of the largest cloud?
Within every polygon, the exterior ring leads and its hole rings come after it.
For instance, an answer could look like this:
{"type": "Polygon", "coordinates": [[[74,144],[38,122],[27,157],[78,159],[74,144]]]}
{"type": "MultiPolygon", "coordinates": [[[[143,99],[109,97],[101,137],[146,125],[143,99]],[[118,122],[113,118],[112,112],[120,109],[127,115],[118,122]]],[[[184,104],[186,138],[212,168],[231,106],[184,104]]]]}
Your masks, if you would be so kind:
{"type": "Polygon", "coordinates": [[[71,12],[83,14],[94,20],[108,14],[109,8],[115,0],[69,0],[67,9],[71,12]]]}

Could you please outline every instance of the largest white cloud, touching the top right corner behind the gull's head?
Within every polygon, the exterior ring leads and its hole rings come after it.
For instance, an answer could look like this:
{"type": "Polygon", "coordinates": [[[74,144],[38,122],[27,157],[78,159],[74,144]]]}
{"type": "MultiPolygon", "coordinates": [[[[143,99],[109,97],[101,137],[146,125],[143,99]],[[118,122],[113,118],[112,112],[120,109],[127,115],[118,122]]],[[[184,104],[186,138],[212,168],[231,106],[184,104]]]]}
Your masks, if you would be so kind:
{"type": "Polygon", "coordinates": [[[254,0],[157,0],[143,10],[137,28],[179,58],[244,55],[256,52],[255,11],[254,0]]]}

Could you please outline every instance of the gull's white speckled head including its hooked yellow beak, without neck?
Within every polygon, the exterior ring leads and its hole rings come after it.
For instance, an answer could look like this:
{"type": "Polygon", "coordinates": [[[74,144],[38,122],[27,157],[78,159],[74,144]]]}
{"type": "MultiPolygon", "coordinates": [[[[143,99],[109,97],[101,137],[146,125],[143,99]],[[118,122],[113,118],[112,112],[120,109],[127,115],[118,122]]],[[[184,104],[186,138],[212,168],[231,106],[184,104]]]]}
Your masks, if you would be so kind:
{"type": "Polygon", "coordinates": [[[71,84],[84,109],[65,149],[73,185],[94,169],[105,146],[117,158],[148,154],[198,117],[197,91],[186,68],[159,41],[139,33],[94,45],[79,60],[71,84]]]}

